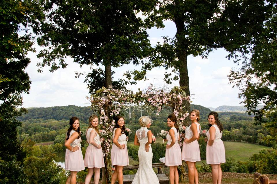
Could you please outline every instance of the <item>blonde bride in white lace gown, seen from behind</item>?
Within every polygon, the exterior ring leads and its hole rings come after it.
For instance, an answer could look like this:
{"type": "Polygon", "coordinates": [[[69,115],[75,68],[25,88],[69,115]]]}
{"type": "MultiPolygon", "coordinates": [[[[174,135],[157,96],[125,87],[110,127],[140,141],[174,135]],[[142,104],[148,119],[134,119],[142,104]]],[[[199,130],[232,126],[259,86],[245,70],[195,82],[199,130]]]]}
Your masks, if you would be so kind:
{"type": "Polygon", "coordinates": [[[132,184],[159,184],[157,175],[152,168],[152,133],[149,128],[152,123],[150,116],[139,118],[141,128],[136,131],[134,145],[139,146],[139,169],[133,179],[132,184]]]}

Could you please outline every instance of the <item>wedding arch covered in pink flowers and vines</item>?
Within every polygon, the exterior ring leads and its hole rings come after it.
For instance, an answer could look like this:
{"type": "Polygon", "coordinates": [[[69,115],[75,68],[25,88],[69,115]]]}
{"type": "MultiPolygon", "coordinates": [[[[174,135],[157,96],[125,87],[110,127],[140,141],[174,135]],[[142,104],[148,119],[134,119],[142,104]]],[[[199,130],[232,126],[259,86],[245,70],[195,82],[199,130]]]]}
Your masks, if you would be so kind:
{"type": "MultiPolygon", "coordinates": [[[[156,111],[156,116],[163,108],[170,108],[177,117],[177,123],[180,129],[184,126],[185,118],[188,112],[184,112],[184,101],[190,103],[190,96],[180,87],[157,88],[151,84],[145,90],[140,90],[137,93],[131,91],[123,91],[114,89],[112,86],[108,88],[102,87],[95,94],[88,97],[91,101],[91,106],[94,111],[100,115],[100,134],[104,137],[103,156],[105,169],[102,170],[102,183],[108,183],[111,179],[111,146],[113,144],[112,135],[115,127],[113,117],[121,114],[122,111],[132,113],[133,110],[147,111],[149,114],[156,111]],[[132,111],[131,111],[132,108],[132,111]],[[104,180],[104,181],[103,181],[104,180]]],[[[182,140],[180,140],[180,146],[182,140]]]]}

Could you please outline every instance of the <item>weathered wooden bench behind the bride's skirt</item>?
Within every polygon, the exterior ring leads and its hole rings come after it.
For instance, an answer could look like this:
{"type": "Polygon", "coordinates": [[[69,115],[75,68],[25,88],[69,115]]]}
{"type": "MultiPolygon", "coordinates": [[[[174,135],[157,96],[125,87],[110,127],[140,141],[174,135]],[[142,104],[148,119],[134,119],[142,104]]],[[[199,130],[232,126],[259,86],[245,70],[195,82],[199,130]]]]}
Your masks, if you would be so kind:
{"type": "MultiPolygon", "coordinates": [[[[169,178],[162,173],[162,167],[167,167],[164,165],[164,163],[155,163],[152,164],[152,168],[158,168],[158,174],[157,177],[159,179],[160,184],[169,184],[169,178]]],[[[132,170],[132,169],[138,169],[139,165],[130,165],[130,166],[124,166],[123,170],[132,170]]],[[[131,184],[135,175],[123,175],[123,184],[131,184]]]]}

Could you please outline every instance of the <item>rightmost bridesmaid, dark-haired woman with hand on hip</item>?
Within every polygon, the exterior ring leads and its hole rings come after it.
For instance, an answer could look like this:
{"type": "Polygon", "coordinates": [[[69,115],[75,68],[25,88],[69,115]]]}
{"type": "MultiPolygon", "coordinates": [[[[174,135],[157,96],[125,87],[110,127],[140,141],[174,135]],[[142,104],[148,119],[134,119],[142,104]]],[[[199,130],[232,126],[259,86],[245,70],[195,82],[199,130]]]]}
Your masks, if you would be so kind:
{"type": "Polygon", "coordinates": [[[212,166],[213,184],[221,184],[222,171],[220,164],[225,162],[224,144],[221,140],[223,127],[218,119],[217,112],[210,112],[208,122],[210,129],[206,133],[208,138],[206,147],[207,164],[212,166]]]}

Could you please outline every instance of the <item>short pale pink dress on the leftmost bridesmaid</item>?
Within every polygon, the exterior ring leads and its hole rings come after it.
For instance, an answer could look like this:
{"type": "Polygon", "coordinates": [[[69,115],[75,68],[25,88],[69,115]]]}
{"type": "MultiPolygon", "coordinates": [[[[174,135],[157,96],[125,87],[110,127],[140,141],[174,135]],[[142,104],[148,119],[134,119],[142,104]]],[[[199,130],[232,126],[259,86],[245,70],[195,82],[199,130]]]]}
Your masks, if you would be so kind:
{"type": "MultiPolygon", "coordinates": [[[[70,131],[69,137],[76,132],[75,130],[70,131]]],[[[65,170],[70,170],[70,171],[80,171],[84,170],[84,159],[83,159],[83,154],[81,151],[81,137],[79,139],[75,139],[72,143],[70,143],[72,147],[79,146],[80,149],[71,152],[71,150],[66,149],[65,150],[65,170]]]]}

